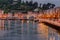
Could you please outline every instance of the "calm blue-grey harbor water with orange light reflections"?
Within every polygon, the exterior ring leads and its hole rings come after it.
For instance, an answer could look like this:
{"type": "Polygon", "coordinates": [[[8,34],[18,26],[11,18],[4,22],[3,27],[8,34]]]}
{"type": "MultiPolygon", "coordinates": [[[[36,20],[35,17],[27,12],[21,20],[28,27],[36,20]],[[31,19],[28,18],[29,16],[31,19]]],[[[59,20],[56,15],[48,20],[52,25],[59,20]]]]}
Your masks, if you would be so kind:
{"type": "Polygon", "coordinates": [[[0,40],[60,40],[60,34],[43,23],[0,20],[0,40]]]}

